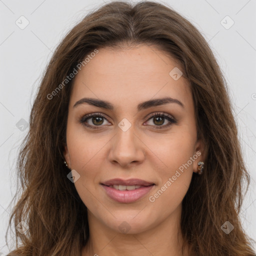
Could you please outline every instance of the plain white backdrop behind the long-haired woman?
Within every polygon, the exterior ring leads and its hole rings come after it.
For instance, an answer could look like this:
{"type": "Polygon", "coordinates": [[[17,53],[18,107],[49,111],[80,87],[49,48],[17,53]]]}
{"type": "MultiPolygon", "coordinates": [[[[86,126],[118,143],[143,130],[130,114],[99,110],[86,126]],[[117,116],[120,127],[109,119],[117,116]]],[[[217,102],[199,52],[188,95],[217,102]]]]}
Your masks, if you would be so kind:
{"type": "MultiPolygon", "coordinates": [[[[26,125],[42,72],[66,32],[105,2],[0,0],[0,252],[4,254],[8,252],[8,205],[16,191],[17,150],[28,131],[26,125]]],[[[256,240],[256,0],[158,2],[166,2],[199,29],[225,75],[251,175],[239,216],[247,234],[256,240]]]]}

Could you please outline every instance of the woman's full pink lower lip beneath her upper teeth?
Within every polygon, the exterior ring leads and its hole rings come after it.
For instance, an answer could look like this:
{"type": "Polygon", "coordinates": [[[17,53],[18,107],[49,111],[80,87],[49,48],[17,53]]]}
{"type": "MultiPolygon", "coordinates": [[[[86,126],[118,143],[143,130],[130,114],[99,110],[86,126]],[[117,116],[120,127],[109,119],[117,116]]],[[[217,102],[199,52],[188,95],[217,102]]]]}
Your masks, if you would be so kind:
{"type": "Polygon", "coordinates": [[[149,186],[141,186],[137,189],[133,190],[118,190],[110,186],[106,186],[101,184],[103,188],[105,189],[107,195],[117,201],[117,202],[123,202],[123,203],[129,203],[129,202],[134,202],[141,197],[143,197],[145,194],[149,192],[149,190],[154,186],[154,185],[149,185],[149,186]]]}

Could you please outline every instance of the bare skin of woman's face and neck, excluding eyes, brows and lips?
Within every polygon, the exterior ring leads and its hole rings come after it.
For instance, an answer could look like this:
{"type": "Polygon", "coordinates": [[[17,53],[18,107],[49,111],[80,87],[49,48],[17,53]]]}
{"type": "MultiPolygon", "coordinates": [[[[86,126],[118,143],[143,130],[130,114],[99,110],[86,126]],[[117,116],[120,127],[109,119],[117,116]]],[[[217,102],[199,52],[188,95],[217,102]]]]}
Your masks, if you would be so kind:
{"type": "MultiPolygon", "coordinates": [[[[80,175],[74,185],[88,209],[90,237],[82,256],[182,255],[182,238],[178,236],[181,201],[197,162],[203,161],[203,145],[196,137],[188,82],[183,76],[174,80],[169,75],[174,67],[178,67],[177,62],[165,52],[139,44],[115,51],[100,48],[75,76],[63,153],[68,167],[80,175]],[[183,107],[166,103],[137,110],[142,101],[166,96],[178,99],[183,107]],[[83,97],[107,100],[114,109],[88,103],[73,107],[83,97]],[[86,120],[94,127],[101,125],[98,129],[79,122],[85,114],[98,112],[105,118],[86,120]],[[176,123],[147,117],[157,112],[171,115],[176,123]],[[131,124],[126,131],[118,126],[123,118],[131,124]],[[170,126],[157,128],[168,123],[170,126]],[[149,196],[196,151],[202,154],[150,202],[149,196]],[[120,203],[109,198],[100,185],[116,177],[140,178],[155,186],[135,202],[120,203]],[[128,223],[128,231],[120,231],[123,221],[128,223]]],[[[188,255],[187,251],[184,255],[188,255]]]]}

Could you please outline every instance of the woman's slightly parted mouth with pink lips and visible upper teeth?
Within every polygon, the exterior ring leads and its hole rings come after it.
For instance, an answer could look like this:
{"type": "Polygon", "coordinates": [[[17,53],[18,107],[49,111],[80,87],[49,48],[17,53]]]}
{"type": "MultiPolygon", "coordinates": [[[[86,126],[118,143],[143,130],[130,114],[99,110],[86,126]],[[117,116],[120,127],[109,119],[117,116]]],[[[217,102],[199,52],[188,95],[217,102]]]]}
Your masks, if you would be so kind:
{"type": "Polygon", "coordinates": [[[155,186],[155,183],[141,179],[116,178],[102,182],[100,185],[112,200],[131,203],[144,197],[155,186]]]}

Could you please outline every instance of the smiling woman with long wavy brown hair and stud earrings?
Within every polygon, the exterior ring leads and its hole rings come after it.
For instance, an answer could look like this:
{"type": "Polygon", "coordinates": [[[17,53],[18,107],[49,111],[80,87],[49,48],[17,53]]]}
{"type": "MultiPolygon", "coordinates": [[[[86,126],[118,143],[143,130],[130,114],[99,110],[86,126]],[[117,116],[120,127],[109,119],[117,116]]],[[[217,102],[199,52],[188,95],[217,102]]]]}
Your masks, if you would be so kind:
{"type": "Polygon", "coordinates": [[[55,50],[18,159],[9,255],[255,255],[226,82],[160,3],[112,2],[55,50]]]}

